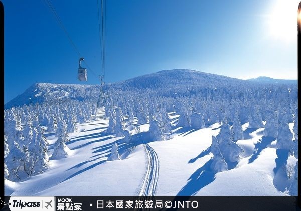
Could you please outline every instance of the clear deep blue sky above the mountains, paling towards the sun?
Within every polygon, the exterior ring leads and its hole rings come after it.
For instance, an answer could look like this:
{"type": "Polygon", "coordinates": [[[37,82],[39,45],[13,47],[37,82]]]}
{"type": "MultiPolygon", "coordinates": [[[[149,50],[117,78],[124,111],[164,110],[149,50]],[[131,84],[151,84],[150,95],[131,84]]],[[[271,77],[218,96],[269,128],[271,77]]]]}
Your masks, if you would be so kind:
{"type": "MultiPolygon", "coordinates": [[[[97,1],[50,1],[100,74],[97,1]]],[[[106,82],[176,68],[241,79],[297,79],[296,19],[292,33],[286,19],[278,20],[294,14],[297,4],[281,13],[283,1],[107,0],[106,82]]],[[[37,82],[98,84],[91,72],[88,82],[77,80],[78,55],[44,0],[2,2],[5,103],[37,82]]]]}

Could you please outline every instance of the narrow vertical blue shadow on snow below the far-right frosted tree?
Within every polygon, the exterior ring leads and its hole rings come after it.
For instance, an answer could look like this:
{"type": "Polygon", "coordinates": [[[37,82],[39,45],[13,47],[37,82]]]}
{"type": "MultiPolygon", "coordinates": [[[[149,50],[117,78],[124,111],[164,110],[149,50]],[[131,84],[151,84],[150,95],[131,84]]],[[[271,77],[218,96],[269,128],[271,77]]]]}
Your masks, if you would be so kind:
{"type": "Polygon", "coordinates": [[[289,150],[276,149],[277,158],[275,159],[276,167],[274,171],[273,184],[279,191],[284,192],[286,189],[287,174],[284,171],[284,166],[287,164],[289,150]]]}

